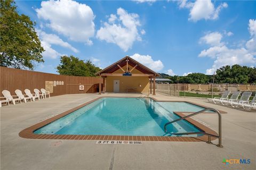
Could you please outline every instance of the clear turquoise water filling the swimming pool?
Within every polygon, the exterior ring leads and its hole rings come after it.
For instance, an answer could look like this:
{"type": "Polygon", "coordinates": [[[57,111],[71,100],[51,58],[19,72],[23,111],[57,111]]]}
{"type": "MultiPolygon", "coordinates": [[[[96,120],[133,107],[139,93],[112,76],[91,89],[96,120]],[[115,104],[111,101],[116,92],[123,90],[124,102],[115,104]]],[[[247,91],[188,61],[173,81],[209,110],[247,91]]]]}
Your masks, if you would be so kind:
{"type": "MultiPolygon", "coordinates": [[[[174,111],[196,112],[202,109],[204,108],[185,102],[156,102],[148,98],[101,98],[34,133],[162,136],[166,135],[164,124],[179,118],[174,111]]],[[[167,126],[167,130],[200,131],[185,120],[167,126]]]]}

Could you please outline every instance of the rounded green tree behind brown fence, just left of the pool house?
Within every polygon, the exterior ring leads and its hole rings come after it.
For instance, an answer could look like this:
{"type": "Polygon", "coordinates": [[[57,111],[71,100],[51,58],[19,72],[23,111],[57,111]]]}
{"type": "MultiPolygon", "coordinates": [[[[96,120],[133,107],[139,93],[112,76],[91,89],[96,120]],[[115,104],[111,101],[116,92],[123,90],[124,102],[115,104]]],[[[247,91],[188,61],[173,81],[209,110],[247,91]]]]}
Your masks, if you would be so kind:
{"type": "Polygon", "coordinates": [[[62,75],[74,75],[84,77],[95,77],[100,68],[92,64],[90,60],[83,61],[73,55],[61,56],[57,70],[62,75]]]}

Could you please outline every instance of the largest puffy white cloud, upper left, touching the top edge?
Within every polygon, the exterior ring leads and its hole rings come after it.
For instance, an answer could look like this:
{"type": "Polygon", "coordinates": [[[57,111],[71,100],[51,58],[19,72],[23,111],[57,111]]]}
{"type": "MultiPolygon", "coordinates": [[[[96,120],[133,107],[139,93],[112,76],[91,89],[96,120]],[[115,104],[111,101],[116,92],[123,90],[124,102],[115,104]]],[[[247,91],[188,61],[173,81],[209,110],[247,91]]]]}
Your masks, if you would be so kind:
{"type": "Polygon", "coordinates": [[[92,9],[71,0],[43,1],[37,8],[39,19],[49,21],[47,25],[70,40],[92,44],[94,36],[94,14],[92,9]]]}

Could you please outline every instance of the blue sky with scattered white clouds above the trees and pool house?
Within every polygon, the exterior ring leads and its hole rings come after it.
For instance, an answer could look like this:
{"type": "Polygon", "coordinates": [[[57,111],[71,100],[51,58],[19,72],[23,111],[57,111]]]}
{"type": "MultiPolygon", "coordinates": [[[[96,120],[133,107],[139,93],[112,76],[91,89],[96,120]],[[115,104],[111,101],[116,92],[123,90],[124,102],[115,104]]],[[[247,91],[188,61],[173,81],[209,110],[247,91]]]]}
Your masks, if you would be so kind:
{"type": "Polygon", "coordinates": [[[256,1],[16,1],[36,21],[45,63],[61,55],[104,68],[128,55],[170,75],[256,66],[256,1]]]}

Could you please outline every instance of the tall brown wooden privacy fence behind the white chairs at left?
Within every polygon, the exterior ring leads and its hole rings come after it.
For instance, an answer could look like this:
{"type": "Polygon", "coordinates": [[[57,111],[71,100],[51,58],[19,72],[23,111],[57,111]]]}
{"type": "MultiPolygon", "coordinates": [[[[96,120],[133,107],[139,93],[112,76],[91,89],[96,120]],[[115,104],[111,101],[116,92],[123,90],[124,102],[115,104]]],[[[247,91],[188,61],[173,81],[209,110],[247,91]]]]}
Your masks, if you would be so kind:
{"type": "Polygon", "coordinates": [[[35,88],[44,88],[51,92],[51,96],[94,93],[99,91],[99,83],[102,86],[103,82],[102,78],[58,75],[7,67],[0,67],[0,76],[1,96],[3,90],[9,90],[11,95],[15,95],[16,89],[22,92],[29,89],[34,93],[35,88]]]}

